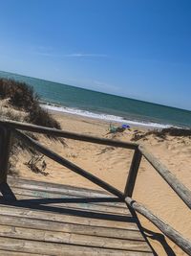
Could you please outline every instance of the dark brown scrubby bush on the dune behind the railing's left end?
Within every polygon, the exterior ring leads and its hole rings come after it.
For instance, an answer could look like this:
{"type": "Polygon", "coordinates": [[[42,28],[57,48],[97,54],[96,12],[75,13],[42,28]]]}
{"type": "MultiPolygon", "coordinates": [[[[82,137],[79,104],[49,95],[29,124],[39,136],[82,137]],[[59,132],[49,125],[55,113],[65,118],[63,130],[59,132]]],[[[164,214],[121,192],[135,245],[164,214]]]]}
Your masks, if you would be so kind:
{"type": "Polygon", "coordinates": [[[40,106],[40,97],[34,92],[32,86],[27,83],[0,79],[0,99],[7,100],[7,104],[11,105],[13,109],[26,113],[24,117],[19,113],[16,115],[15,111],[11,111],[11,108],[9,108],[9,111],[5,111],[8,113],[5,117],[8,119],[60,129],[59,123],[53,119],[46,109],[40,106]],[[21,120],[19,120],[19,116],[21,120]]]}

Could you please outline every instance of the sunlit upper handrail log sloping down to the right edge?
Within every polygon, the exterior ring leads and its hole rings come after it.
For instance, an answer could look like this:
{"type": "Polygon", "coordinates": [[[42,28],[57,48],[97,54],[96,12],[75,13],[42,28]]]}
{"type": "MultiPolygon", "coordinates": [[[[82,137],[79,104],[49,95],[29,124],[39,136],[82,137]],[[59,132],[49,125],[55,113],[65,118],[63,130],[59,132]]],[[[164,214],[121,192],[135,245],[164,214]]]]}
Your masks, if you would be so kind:
{"type": "Polygon", "coordinates": [[[186,188],[179,179],[173,175],[153,154],[148,152],[143,146],[138,147],[139,151],[149,161],[149,163],[156,169],[156,171],[163,177],[163,179],[170,185],[170,187],[177,193],[177,195],[184,201],[184,203],[191,209],[191,191],[186,188]]]}

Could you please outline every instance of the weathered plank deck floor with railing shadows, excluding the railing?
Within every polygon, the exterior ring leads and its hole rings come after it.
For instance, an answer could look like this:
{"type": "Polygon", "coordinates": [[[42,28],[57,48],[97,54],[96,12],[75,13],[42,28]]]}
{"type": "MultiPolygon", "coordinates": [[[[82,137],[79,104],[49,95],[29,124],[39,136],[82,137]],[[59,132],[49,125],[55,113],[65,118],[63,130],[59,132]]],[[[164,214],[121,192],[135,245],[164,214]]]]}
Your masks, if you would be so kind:
{"type": "Polygon", "coordinates": [[[0,201],[0,255],[153,255],[115,196],[12,177],[8,184],[16,200],[0,201]]]}

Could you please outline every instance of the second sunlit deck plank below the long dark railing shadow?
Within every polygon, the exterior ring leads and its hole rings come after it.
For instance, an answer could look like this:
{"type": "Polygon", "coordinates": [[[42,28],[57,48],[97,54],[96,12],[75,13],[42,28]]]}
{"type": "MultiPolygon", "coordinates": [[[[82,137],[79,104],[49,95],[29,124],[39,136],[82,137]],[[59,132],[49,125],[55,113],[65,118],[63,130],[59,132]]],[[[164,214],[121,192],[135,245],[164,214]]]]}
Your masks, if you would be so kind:
{"type": "Polygon", "coordinates": [[[15,217],[6,215],[0,215],[0,224],[55,232],[58,231],[69,234],[73,233],[78,235],[82,234],[89,236],[117,238],[123,240],[145,241],[139,230],[128,230],[122,228],[89,226],[83,224],[37,220],[25,217],[15,217]]]}

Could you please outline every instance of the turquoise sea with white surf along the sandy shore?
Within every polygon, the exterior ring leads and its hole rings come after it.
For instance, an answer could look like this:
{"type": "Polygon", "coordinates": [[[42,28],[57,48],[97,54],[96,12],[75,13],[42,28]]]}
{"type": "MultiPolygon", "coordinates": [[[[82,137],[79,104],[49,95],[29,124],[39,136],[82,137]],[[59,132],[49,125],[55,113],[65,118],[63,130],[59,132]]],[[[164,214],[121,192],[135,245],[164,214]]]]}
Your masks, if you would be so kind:
{"type": "Polygon", "coordinates": [[[24,81],[50,110],[146,128],[191,128],[191,111],[0,71],[0,78],[24,81]]]}

